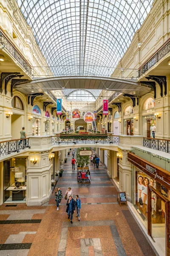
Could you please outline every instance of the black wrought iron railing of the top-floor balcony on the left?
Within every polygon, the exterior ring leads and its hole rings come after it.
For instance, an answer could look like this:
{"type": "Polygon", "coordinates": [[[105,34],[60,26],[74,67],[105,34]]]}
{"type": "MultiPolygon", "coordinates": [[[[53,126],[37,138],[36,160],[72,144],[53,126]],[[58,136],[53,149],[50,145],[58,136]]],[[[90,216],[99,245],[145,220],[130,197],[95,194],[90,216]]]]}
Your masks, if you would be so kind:
{"type": "Polygon", "coordinates": [[[28,62],[23,58],[20,52],[14,47],[10,39],[0,30],[0,44],[4,46],[7,52],[9,52],[12,57],[17,60],[17,62],[32,76],[32,68],[28,62]]]}

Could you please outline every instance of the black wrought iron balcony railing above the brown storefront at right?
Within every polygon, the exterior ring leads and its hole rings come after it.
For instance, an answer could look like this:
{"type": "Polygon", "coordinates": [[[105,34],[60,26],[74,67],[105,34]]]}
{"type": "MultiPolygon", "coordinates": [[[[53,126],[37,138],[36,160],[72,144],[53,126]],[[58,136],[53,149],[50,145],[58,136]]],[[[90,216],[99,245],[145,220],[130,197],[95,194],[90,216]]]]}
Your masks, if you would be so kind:
{"type": "Polygon", "coordinates": [[[147,148],[170,153],[170,140],[143,138],[143,145],[147,148]]]}

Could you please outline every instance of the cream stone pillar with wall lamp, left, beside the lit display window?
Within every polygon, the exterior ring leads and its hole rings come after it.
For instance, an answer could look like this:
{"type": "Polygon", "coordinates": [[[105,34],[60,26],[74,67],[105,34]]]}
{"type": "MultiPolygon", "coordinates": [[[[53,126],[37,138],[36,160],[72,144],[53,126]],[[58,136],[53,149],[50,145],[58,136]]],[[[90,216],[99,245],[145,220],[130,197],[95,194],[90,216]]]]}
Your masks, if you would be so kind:
{"type": "Polygon", "coordinates": [[[49,151],[34,152],[28,156],[27,196],[26,204],[42,205],[51,197],[52,163],[49,161],[49,151]],[[37,163],[31,163],[31,158],[37,158],[37,163]]]}

